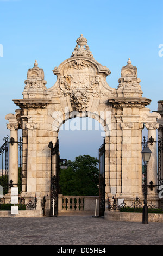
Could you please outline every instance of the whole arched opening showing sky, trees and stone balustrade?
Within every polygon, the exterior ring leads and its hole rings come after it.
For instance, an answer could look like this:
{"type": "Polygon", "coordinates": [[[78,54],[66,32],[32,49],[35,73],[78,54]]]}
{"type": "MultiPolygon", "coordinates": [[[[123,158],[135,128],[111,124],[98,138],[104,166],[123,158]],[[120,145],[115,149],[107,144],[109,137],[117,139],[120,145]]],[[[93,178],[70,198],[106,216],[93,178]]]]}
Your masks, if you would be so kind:
{"type": "Polygon", "coordinates": [[[99,148],[105,131],[99,121],[74,117],[60,126],[59,214],[98,214],[99,148]],[[64,161],[63,161],[64,160],[64,161]]]}

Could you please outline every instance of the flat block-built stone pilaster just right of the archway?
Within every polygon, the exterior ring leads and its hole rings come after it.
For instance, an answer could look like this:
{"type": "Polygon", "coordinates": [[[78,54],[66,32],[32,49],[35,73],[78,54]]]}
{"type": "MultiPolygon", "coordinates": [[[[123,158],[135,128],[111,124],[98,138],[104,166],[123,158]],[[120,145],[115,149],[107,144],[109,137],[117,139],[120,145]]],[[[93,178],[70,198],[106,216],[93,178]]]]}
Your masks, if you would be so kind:
{"type": "MultiPolygon", "coordinates": [[[[131,120],[131,118],[130,118],[131,120]]],[[[140,195],[142,184],[141,129],[137,122],[123,122],[122,129],[122,194],[128,199],[140,195]]]]}

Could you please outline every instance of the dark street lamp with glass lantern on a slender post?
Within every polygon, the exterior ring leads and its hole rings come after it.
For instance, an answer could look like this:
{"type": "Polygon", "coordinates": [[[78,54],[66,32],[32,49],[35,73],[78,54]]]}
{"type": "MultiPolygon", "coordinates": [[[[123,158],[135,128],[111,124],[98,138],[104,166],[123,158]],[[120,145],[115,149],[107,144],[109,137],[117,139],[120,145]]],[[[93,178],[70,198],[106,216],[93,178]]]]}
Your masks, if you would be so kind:
{"type": "Polygon", "coordinates": [[[152,151],[148,147],[144,147],[141,151],[142,159],[145,163],[145,173],[144,173],[144,206],[143,206],[143,216],[142,216],[142,224],[148,224],[148,206],[147,206],[147,166],[149,159],[151,157],[152,151]]]}

